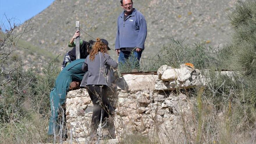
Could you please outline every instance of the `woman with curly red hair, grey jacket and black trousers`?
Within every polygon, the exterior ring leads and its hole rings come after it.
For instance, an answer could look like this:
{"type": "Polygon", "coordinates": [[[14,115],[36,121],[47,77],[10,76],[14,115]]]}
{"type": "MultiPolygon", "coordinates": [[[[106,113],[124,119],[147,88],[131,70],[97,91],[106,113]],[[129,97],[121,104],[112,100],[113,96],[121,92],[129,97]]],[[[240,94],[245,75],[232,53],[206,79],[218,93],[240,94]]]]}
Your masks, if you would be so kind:
{"type": "MultiPolygon", "coordinates": [[[[93,102],[93,116],[91,122],[91,140],[96,140],[97,129],[114,109],[111,106],[107,90],[111,86],[111,68],[116,69],[118,63],[108,54],[108,42],[104,39],[97,38],[90,52],[85,59],[82,70],[88,71],[84,76],[89,96],[93,102]]],[[[113,70],[113,69],[112,69],[113,70]]],[[[81,86],[84,83],[81,83],[81,86]]]]}

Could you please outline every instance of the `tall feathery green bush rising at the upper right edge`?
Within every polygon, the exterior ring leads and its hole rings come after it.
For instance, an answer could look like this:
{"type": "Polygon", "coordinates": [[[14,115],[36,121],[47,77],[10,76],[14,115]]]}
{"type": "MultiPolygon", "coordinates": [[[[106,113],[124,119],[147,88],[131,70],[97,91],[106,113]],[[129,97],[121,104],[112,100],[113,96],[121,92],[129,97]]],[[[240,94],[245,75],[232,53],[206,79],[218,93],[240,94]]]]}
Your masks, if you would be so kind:
{"type": "Polygon", "coordinates": [[[256,75],[256,2],[246,1],[236,5],[229,15],[234,30],[232,45],[225,47],[231,54],[226,57],[230,69],[256,75]]]}

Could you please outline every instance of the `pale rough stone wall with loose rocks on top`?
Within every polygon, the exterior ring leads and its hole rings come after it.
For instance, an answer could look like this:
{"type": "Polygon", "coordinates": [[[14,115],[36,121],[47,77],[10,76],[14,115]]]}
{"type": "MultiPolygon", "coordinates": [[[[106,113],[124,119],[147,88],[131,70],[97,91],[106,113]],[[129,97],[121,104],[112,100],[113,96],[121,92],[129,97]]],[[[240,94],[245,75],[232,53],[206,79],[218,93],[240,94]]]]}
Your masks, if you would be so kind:
{"type": "MultiPolygon", "coordinates": [[[[184,129],[194,134],[189,88],[205,84],[200,70],[185,64],[176,69],[163,65],[157,75],[127,74],[117,79],[109,97],[115,107],[109,132],[117,138],[134,132],[170,143],[184,139],[184,129]],[[183,127],[191,125],[191,127],[183,127]]],[[[93,104],[86,89],[70,91],[66,119],[70,134],[87,141],[93,104]]]]}

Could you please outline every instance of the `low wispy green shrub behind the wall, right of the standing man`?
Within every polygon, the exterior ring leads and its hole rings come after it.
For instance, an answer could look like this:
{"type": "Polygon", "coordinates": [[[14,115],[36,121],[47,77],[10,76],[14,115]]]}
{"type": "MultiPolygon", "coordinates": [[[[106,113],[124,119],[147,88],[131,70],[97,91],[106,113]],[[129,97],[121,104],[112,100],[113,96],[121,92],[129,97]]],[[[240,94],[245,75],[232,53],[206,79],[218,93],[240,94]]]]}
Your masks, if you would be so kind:
{"type": "Polygon", "coordinates": [[[184,44],[183,41],[170,39],[168,46],[163,46],[157,55],[148,59],[141,58],[140,67],[127,61],[119,64],[120,72],[131,72],[132,69],[138,71],[157,71],[161,65],[169,65],[179,68],[183,63],[192,63],[197,69],[205,69],[220,64],[222,58],[218,56],[219,49],[207,47],[205,43],[184,44]]]}

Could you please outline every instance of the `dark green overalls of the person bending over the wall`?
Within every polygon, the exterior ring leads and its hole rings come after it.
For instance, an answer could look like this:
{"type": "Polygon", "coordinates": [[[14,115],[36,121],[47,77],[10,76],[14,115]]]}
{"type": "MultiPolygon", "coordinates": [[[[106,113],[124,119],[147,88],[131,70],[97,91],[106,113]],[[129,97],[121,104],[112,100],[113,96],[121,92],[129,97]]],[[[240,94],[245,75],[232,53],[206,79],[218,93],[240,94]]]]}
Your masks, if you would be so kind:
{"type": "Polygon", "coordinates": [[[60,120],[58,119],[61,106],[65,104],[66,95],[72,81],[81,82],[85,72],[82,65],[85,59],[77,59],[67,65],[56,78],[55,86],[50,93],[51,117],[49,120],[48,135],[58,134],[60,130],[60,120]]]}

